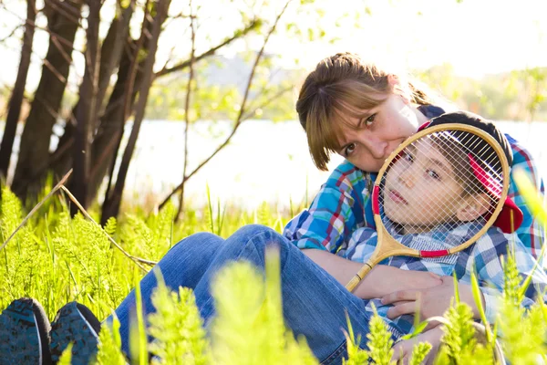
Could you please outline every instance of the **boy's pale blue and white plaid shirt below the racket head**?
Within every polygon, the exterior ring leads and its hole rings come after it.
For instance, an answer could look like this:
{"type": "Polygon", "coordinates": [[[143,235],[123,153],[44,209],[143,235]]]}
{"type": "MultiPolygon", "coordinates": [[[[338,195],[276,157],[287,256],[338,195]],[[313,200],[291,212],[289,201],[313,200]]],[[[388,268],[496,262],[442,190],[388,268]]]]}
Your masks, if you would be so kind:
{"type": "MultiPolygon", "coordinates": [[[[435,230],[434,233],[419,235],[397,235],[394,229],[389,231],[397,241],[410,248],[417,250],[442,250],[468,241],[473,235],[479,232],[480,224],[461,224],[456,229],[435,230]]],[[[351,238],[348,245],[339,250],[337,255],[352,261],[366,262],[377,246],[377,232],[372,228],[359,228],[351,238]]],[[[490,227],[485,235],[470,247],[459,253],[443,257],[421,258],[409,256],[388,257],[380,264],[395,266],[404,270],[429,271],[440,276],[451,276],[455,274],[461,283],[470,284],[471,273],[475,272],[477,279],[487,303],[487,318],[491,323],[495,319],[496,303],[489,300],[496,300],[503,289],[503,267],[501,266],[501,255],[508,255],[508,247],[514,253],[517,268],[521,273],[522,280],[532,273],[535,260],[521,244],[516,235],[505,235],[497,227],[490,227]],[[490,310],[489,310],[490,309],[490,310]]],[[[536,270],[532,276],[532,283],[528,288],[522,305],[529,308],[533,299],[538,293],[543,293],[547,286],[547,275],[542,270],[536,270]]],[[[382,305],[380,299],[366,301],[366,310],[372,315],[372,304],[377,308],[380,316],[387,319],[387,309],[391,305],[382,305]]],[[[395,318],[390,323],[395,323],[404,333],[411,333],[414,330],[414,316],[404,315],[395,318]]]]}

